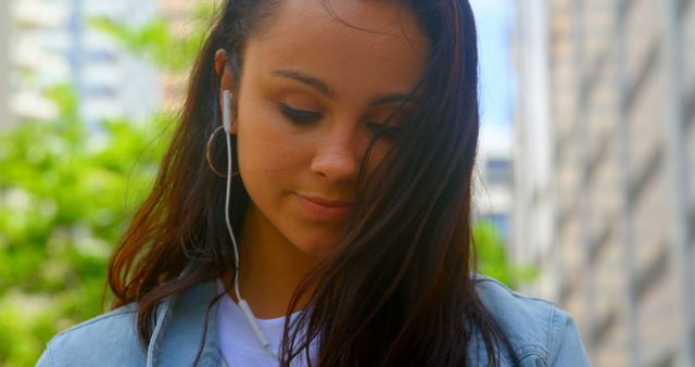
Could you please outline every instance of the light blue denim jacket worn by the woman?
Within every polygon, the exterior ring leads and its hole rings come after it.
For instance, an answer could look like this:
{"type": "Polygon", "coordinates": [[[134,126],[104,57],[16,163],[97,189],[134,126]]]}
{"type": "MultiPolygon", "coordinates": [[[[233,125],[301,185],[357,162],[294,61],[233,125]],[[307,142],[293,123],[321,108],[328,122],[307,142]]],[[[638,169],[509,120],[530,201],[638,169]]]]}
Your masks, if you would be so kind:
{"type": "MultiPolygon", "coordinates": [[[[589,366],[586,353],[571,317],[549,302],[515,293],[490,278],[477,278],[477,291],[509,339],[518,366],[589,366]]],[[[201,283],[164,301],[144,350],[136,328],[137,306],[127,305],[77,325],[54,337],[37,366],[224,366],[217,347],[216,307],[207,305],[216,293],[215,282],[201,283]],[[203,338],[205,336],[205,338],[203,338]]],[[[481,338],[473,338],[470,366],[488,358],[481,338]]],[[[501,350],[502,366],[514,366],[501,350]]]]}

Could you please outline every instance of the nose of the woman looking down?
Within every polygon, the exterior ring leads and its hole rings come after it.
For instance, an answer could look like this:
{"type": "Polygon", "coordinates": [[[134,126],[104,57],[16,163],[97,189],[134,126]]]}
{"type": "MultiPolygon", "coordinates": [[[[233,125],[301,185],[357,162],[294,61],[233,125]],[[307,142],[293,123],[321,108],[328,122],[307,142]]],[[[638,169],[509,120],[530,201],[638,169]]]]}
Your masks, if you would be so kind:
{"type": "Polygon", "coordinates": [[[359,143],[354,134],[337,131],[316,151],[311,164],[314,174],[330,182],[356,180],[359,173],[359,143]]]}

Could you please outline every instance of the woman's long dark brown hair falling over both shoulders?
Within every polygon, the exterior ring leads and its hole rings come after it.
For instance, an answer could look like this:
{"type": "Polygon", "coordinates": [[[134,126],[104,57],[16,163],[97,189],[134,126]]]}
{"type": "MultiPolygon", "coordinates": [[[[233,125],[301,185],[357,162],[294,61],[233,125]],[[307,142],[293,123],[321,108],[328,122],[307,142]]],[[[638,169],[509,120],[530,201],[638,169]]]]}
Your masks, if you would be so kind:
{"type": "MultiPolygon", "coordinates": [[[[279,2],[228,0],[220,8],[154,188],[111,260],[113,307],[139,304],[143,344],[164,298],[233,266],[222,204],[225,181],[205,160],[207,138],[220,125],[214,54],[227,50],[242,73],[245,40],[273,21],[279,2]]],[[[471,276],[471,175],[479,132],[472,12],[462,0],[403,2],[431,46],[428,67],[412,91],[418,106],[377,172],[361,173],[343,236],[296,290],[288,314],[302,294],[309,295],[311,312],[286,322],[283,366],[313,340],[320,366],[460,366],[470,357],[476,332],[492,365],[498,364],[500,347],[508,346],[471,276]]],[[[213,147],[216,166],[225,165],[225,149],[213,147]]],[[[232,149],[236,162],[236,144],[232,149]]],[[[239,233],[249,205],[239,178],[232,192],[230,216],[239,233]]]]}

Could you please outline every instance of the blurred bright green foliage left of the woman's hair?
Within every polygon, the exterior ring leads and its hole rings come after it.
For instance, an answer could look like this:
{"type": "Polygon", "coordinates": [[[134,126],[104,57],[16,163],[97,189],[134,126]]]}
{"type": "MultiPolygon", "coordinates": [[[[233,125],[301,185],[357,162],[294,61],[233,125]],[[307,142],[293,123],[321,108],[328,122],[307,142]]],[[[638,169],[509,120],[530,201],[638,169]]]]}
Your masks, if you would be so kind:
{"type": "Polygon", "coordinates": [[[70,87],[49,96],[56,119],[0,136],[0,365],[33,365],[50,337],[101,312],[108,256],[168,140],[170,116],[90,131],[70,87]]]}

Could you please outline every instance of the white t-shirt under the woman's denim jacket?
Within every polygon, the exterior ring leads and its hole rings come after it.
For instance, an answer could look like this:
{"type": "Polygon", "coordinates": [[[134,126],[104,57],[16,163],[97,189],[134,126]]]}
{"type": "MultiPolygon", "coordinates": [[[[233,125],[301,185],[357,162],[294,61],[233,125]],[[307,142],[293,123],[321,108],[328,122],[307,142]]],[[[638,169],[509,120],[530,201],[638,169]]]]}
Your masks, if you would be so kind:
{"type": "MultiPolygon", "coordinates": [[[[218,283],[218,289],[220,291],[224,290],[222,282],[218,283]]],[[[293,314],[291,318],[293,319],[296,315],[299,315],[299,313],[293,314]]],[[[256,321],[270,343],[270,349],[278,351],[277,353],[279,355],[282,329],[285,328],[285,317],[270,319],[256,318],[256,321]]],[[[277,367],[279,365],[278,358],[261,345],[249,322],[243,317],[241,308],[239,308],[239,305],[237,305],[229,295],[224,296],[219,301],[217,308],[217,333],[219,352],[223,359],[227,363],[227,366],[277,367]]],[[[305,358],[295,358],[292,363],[292,366],[298,367],[307,365],[305,358]]],[[[313,363],[313,365],[316,364],[313,363]]]]}

